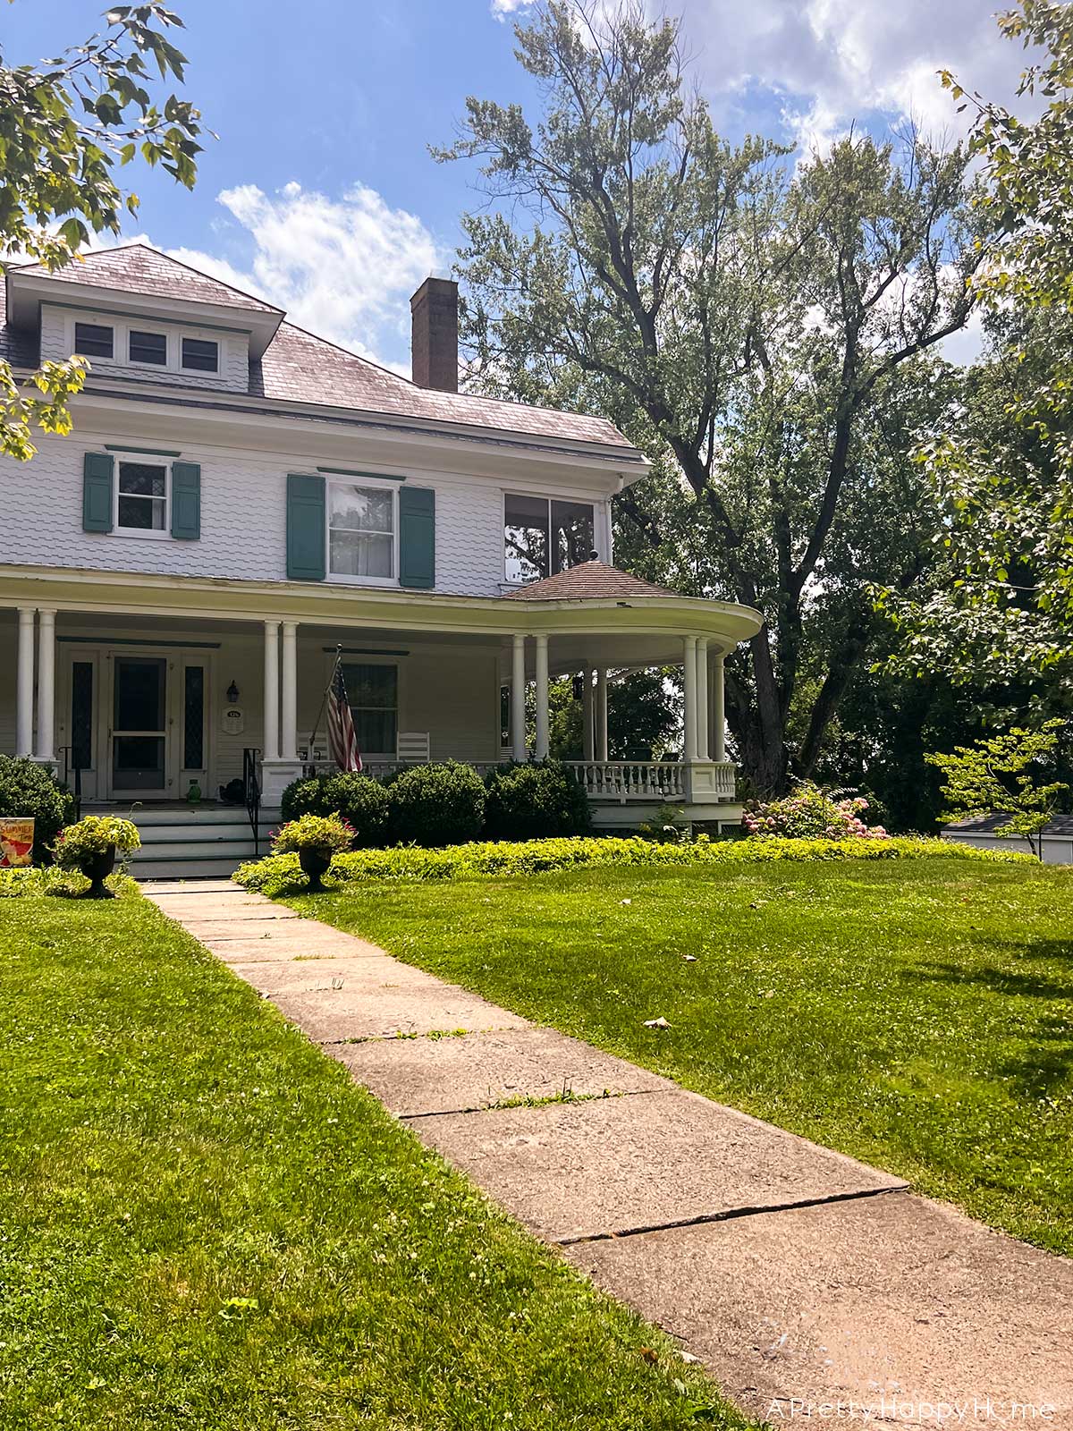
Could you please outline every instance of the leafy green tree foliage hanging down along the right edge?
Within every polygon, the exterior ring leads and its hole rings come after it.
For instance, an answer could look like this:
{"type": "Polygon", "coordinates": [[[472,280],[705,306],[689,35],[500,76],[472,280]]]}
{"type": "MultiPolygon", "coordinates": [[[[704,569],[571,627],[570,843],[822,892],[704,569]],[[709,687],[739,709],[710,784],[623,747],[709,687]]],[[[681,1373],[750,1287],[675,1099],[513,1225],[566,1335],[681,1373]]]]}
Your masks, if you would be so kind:
{"type": "Polygon", "coordinates": [[[1021,0],[999,24],[1043,50],[1019,93],[1046,104],[1026,122],[943,76],[973,114],[979,203],[999,232],[973,278],[994,358],[920,451],[941,518],[936,581],[884,604],[908,667],[1060,680],[1073,670],[1073,4],[1021,0]]]}

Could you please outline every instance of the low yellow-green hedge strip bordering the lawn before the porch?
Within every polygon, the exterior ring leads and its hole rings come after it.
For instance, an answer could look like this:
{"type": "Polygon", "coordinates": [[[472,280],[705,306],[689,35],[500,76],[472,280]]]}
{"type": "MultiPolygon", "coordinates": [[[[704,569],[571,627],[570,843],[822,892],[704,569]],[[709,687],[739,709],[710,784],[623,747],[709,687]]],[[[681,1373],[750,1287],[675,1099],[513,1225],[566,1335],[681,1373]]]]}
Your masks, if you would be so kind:
{"type": "MultiPolygon", "coordinates": [[[[1036,863],[1030,854],[1013,850],[980,850],[950,840],[897,836],[890,840],[707,840],[658,844],[640,836],[629,839],[589,837],[459,844],[446,850],[401,846],[393,850],[359,850],[338,854],[330,877],[349,880],[456,880],[485,874],[542,874],[599,864],[748,864],[770,860],[920,860],[960,859],[1036,863]]],[[[295,854],[276,854],[242,864],[235,876],[246,889],[278,894],[302,884],[295,854]]]]}

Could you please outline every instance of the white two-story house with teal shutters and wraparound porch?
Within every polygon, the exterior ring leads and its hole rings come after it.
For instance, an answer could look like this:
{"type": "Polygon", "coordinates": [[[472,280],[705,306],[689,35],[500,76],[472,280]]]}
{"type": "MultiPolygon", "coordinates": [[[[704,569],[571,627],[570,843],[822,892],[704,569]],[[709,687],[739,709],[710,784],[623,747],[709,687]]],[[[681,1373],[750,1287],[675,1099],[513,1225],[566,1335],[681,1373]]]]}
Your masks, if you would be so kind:
{"type": "Polygon", "coordinates": [[[73,432],[0,459],[0,751],[142,811],[256,773],[272,811],[328,758],[340,647],[373,776],[541,758],[571,673],[598,823],[737,820],[722,657],[758,614],[614,570],[645,459],[598,418],[459,394],[454,283],[412,299],[413,381],[142,245],[3,286],[17,371],[92,368],[73,432]],[[684,758],[609,761],[608,670],[670,663],[684,758]]]}

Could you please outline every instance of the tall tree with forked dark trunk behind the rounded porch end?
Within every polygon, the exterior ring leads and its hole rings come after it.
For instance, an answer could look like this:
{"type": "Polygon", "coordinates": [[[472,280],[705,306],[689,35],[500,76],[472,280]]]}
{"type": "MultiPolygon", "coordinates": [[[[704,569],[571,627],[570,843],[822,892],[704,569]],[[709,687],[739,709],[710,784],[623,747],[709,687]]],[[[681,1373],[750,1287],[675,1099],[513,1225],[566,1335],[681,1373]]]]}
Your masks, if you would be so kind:
{"type": "Polygon", "coordinates": [[[605,412],[652,456],[618,501],[619,551],[763,611],[728,720],[745,773],[778,791],[867,658],[868,582],[908,590],[930,560],[907,454],[947,401],[931,352],[981,259],[966,155],[854,136],[791,173],[774,143],[720,139],[672,21],[548,0],[516,36],[539,117],[471,99],[441,152],[479,160],[494,200],[461,253],[472,381],[605,412]]]}

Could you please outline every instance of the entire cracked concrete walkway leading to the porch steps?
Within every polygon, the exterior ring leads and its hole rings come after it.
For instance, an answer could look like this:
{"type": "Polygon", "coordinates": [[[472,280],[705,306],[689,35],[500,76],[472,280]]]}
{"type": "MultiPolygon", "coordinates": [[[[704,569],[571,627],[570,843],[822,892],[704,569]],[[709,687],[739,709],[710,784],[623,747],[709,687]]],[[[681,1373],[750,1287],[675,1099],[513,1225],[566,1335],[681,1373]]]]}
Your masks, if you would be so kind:
{"type": "Polygon", "coordinates": [[[1073,1262],[230,881],[144,889],[754,1417],[1073,1428],[1073,1262]]]}

